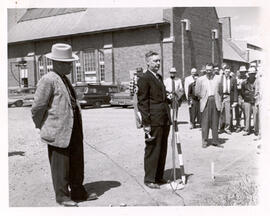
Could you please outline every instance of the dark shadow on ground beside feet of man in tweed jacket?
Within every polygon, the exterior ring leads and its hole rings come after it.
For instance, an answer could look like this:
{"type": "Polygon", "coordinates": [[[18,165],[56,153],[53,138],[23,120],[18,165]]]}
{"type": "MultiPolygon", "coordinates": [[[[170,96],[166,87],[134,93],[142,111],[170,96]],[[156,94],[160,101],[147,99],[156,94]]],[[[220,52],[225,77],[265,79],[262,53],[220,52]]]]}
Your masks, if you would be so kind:
{"type": "Polygon", "coordinates": [[[97,182],[86,183],[84,187],[88,193],[95,192],[97,196],[101,196],[106,191],[110,190],[111,188],[119,187],[120,185],[121,183],[118,181],[97,181],[97,182]]]}

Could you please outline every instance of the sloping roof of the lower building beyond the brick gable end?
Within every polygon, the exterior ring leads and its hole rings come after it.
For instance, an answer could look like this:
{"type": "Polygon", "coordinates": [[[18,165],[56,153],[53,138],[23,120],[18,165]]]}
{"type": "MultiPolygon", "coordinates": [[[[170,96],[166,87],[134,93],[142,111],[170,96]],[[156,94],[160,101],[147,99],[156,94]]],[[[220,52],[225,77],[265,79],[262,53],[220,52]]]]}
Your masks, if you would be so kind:
{"type": "Polygon", "coordinates": [[[232,40],[223,39],[223,59],[247,63],[247,52],[243,44],[236,44],[232,40]]]}

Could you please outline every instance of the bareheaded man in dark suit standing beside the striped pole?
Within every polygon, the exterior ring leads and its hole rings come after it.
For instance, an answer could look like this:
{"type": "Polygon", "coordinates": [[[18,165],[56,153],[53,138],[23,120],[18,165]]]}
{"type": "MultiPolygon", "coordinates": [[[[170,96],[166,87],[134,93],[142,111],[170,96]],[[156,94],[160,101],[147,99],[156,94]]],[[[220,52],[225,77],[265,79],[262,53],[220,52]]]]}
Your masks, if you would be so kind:
{"type": "Polygon", "coordinates": [[[152,189],[159,189],[163,179],[170,131],[170,109],[160,68],[158,53],[149,51],[145,55],[147,71],[138,80],[138,109],[142,116],[144,132],[154,139],[145,142],[144,183],[152,189]]]}

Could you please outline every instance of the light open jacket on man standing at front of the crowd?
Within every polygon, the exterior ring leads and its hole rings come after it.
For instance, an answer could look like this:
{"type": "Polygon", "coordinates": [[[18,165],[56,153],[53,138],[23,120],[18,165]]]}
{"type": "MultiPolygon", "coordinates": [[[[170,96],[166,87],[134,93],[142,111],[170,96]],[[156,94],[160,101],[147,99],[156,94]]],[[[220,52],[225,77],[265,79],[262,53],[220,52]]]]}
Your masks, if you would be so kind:
{"type": "MultiPolygon", "coordinates": [[[[221,76],[214,75],[213,86],[214,86],[214,97],[217,110],[221,110],[221,95],[219,92],[221,82],[221,76]]],[[[196,80],[195,95],[200,98],[200,111],[203,112],[208,100],[208,78],[206,75],[199,77],[196,80]]]]}

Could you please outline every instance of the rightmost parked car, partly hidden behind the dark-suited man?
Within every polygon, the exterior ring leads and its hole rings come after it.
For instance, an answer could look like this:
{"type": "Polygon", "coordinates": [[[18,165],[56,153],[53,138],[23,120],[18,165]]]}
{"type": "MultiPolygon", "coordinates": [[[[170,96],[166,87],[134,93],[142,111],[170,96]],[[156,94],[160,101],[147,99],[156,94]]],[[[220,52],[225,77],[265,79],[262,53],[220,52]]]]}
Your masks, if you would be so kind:
{"type": "Polygon", "coordinates": [[[111,94],[110,104],[112,106],[122,106],[127,108],[128,106],[133,105],[133,96],[130,95],[129,90],[123,92],[111,94]]]}

